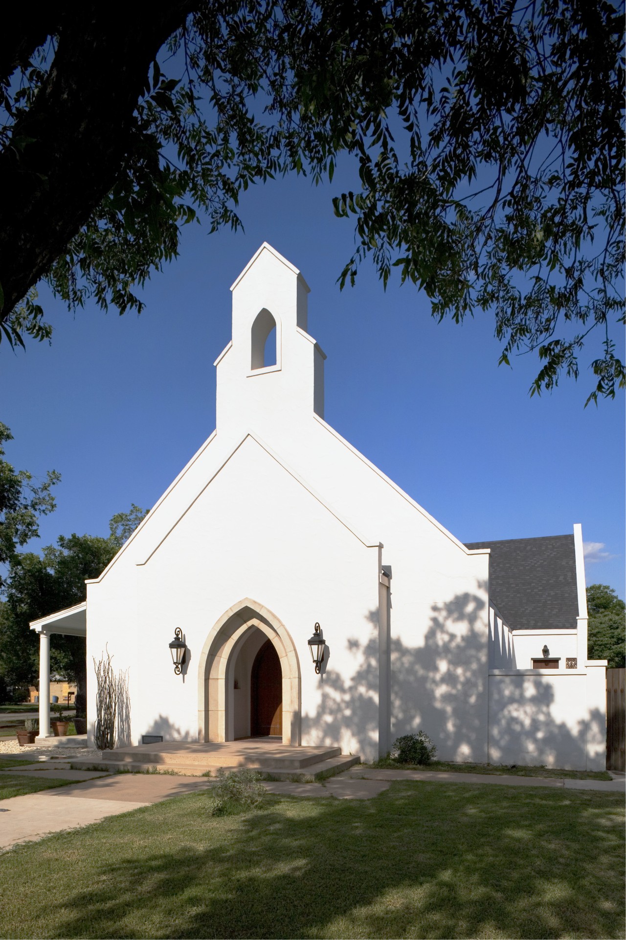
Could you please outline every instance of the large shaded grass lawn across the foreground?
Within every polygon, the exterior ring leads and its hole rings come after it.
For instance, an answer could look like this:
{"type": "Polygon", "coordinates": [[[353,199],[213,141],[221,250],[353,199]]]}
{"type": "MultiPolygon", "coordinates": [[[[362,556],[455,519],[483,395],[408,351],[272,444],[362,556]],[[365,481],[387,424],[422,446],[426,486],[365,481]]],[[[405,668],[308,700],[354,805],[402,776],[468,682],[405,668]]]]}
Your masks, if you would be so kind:
{"type": "Polygon", "coordinates": [[[166,800],[0,857],[7,937],[623,937],[619,793],[166,800]],[[27,901],[24,901],[27,898],[27,901]]]}

